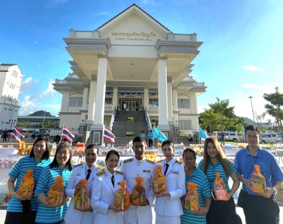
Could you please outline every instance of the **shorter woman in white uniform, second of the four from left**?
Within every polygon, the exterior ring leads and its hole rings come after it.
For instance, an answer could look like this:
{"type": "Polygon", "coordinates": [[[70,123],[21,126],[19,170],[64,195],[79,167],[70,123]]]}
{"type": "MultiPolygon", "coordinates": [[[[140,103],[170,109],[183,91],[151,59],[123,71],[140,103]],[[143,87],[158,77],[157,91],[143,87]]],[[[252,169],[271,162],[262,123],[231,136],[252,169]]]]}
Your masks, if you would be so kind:
{"type": "Polygon", "coordinates": [[[114,195],[120,188],[120,181],[123,181],[123,173],[116,171],[119,160],[117,151],[109,151],[105,159],[106,169],[95,175],[90,202],[92,209],[96,211],[93,224],[124,223],[122,211],[114,206],[114,195]]]}

